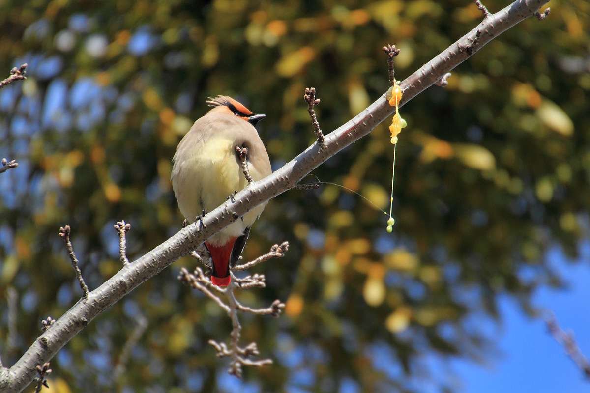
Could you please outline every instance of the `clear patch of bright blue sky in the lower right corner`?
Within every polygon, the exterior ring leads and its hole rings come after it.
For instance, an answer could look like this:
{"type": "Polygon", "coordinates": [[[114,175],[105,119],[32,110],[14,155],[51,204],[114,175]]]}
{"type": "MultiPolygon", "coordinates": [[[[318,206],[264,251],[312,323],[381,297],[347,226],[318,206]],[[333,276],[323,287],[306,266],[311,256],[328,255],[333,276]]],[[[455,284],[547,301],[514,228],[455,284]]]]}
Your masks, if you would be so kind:
{"type": "MultiPolygon", "coordinates": [[[[568,288],[541,288],[533,303],[552,311],[562,329],[571,329],[586,356],[590,355],[590,243],[582,243],[579,263],[568,262],[558,249],[549,260],[562,273],[568,288]]],[[[487,365],[454,361],[453,368],[463,379],[463,392],[477,393],[562,393],[590,392],[585,379],[565,350],[549,334],[545,322],[523,315],[519,305],[499,298],[503,323],[497,334],[500,354],[487,365]]]]}

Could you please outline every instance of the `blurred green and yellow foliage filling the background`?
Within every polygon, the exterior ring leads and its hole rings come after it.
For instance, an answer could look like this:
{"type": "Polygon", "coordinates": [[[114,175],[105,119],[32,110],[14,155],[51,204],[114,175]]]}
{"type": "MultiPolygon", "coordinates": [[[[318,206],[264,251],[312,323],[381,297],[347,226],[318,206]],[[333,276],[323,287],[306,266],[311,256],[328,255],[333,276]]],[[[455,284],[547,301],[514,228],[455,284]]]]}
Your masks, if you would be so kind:
{"type": "MultiPolygon", "coordinates": [[[[486,1],[491,12],[507,4],[486,1]]],[[[510,29],[446,88],[402,108],[392,234],[386,216],[335,186],[268,205],[245,259],[284,240],[291,248],[255,268],[268,286],[242,298],[286,300],[286,316],[245,318],[243,339],[275,365],[247,370],[244,382],[225,374],[207,341],[227,339],[230,321],[176,280],[194,266],[183,259],[65,346],[51,362],[52,389],[452,390],[428,377],[428,359],[490,354],[496,295],[534,313],[532,290],[560,284],[548,247],[575,256],[588,234],[590,5],[549,6],[543,22],[510,29]],[[139,315],[148,328],[113,381],[139,315]]],[[[469,0],[4,0],[0,11],[0,75],[29,64],[28,80],[0,91],[0,156],[20,164],[0,175],[5,365],[40,334],[41,319],[80,295],[60,226],[72,227],[91,289],[120,268],[117,220],[132,224],[131,259],[180,229],[171,158],[207,97],[232,95],[268,115],[258,128],[276,169],[314,140],[305,87],[317,88],[320,126],[333,130],[387,90],[383,45],[401,49],[404,79],[482,17],[469,0]],[[9,287],[19,296],[11,333],[9,287]]],[[[386,209],[386,126],[314,174],[386,209]]]]}

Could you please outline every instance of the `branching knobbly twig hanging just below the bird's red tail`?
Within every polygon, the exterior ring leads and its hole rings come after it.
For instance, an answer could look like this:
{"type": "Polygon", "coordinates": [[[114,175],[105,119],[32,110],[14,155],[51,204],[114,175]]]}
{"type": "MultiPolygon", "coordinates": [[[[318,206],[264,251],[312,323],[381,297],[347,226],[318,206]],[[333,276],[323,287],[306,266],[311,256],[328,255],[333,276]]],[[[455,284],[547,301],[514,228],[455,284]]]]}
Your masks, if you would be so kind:
{"type": "MultiPolygon", "coordinates": [[[[265,260],[271,259],[273,257],[284,256],[284,252],[286,252],[288,248],[289,243],[287,242],[284,242],[280,246],[274,245],[271,248],[270,253],[267,253],[266,255],[259,257],[253,262],[241,265],[240,269],[238,270],[243,270],[245,269],[245,267],[257,265],[258,263],[264,262],[265,260]]],[[[285,306],[284,303],[281,303],[280,300],[274,300],[274,302],[267,308],[253,309],[248,306],[242,305],[242,303],[240,303],[234,295],[235,289],[264,288],[264,286],[266,285],[264,282],[264,275],[255,274],[253,276],[247,276],[245,278],[237,278],[232,273],[230,285],[228,285],[225,289],[220,289],[217,286],[213,286],[211,284],[211,280],[204,275],[204,273],[199,267],[195,269],[195,272],[193,274],[189,273],[188,270],[186,270],[185,268],[182,268],[178,278],[182,282],[190,285],[192,288],[200,290],[202,293],[208,296],[208,298],[214,300],[219,305],[219,307],[224,309],[224,311],[227,312],[228,316],[230,316],[232,323],[230,346],[227,346],[225,343],[217,342],[215,340],[209,340],[209,344],[215,347],[215,349],[217,350],[217,356],[219,358],[229,356],[233,359],[230,364],[230,368],[228,369],[228,372],[231,375],[235,375],[235,377],[241,378],[242,366],[261,367],[273,363],[271,359],[249,359],[250,356],[255,356],[259,354],[255,342],[252,342],[244,348],[240,346],[240,334],[242,326],[240,324],[240,320],[238,319],[238,311],[249,312],[254,315],[272,315],[278,317],[281,310],[285,306]],[[219,298],[219,296],[213,293],[211,291],[212,288],[215,288],[216,290],[218,290],[218,292],[223,293],[227,297],[228,303],[224,303],[219,298]]]]}

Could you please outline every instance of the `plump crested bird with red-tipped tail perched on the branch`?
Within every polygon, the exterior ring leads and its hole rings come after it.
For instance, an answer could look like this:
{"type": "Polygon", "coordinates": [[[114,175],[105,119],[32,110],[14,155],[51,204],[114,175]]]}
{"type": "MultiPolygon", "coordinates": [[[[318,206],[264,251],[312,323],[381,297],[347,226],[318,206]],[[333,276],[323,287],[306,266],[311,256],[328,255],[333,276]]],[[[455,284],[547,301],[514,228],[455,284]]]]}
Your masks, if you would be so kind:
{"type": "MultiPolygon", "coordinates": [[[[195,121],[176,147],[172,160],[172,189],[189,222],[201,213],[211,212],[248,185],[237,148],[247,149],[251,180],[261,180],[272,173],[268,153],[254,127],[266,115],[254,114],[225,95],[209,98],[206,103],[211,110],[195,121]]],[[[240,258],[250,228],[265,206],[263,203],[254,207],[205,242],[212,260],[213,285],[230,285],[230,266],[234,267],[240,258]]]]}

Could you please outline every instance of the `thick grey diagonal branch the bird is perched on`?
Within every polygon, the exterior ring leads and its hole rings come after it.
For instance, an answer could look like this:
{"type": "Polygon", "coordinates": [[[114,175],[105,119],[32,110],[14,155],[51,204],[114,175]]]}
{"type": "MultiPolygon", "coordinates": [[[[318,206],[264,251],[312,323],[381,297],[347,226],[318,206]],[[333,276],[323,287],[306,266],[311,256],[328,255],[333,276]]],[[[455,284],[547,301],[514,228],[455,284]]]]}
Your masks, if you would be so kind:
{"type": "MultiPolygon", "coordinates": [[[[476,28],[422,66],[401,83],[404,105],[447,72],[467,60],[484,45],[520,21],[535,15],[548,0],[517,0],[501,11],[485,18],[476,28]]],[[[188,255],[209,237],[253,209],[258,204],[289,190],[328,158],[359,138],[394,111],[385,94],[348,123],[325,136],[325,146],[313,144],[281,169],[263,180],[250,184],[213,212],[202,217],[200,224],[191,224],[135,262],[124,266],[116,275],[89,293],[86,302],[79,300],[35,340],[9,372],[0,371],[0,391],[19,392],[37,374],[35,367],[49,361],[71,338],[141,283],[152,278],[182,256],[188,255]]]]}

